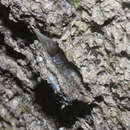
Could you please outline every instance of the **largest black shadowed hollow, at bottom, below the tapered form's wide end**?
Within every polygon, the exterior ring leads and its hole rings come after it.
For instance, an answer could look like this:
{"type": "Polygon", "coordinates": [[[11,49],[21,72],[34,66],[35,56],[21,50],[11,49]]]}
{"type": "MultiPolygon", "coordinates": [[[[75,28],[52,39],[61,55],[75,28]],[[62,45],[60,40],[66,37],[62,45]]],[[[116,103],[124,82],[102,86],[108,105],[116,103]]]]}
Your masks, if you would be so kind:
{"type": "Polygon", "coordinates": [[[78,117],[85,118],[89,125],[93,126],[91,111],[95,104],[86,104],[82,101],[64,101],[61,94],[55,94],[46,81],[42,81],[36,87],[35,103],[48,116],[55,119],[60,126],[71,127],[78,117]],[[62,106],[65,105],[64,108],[62,106]]]}

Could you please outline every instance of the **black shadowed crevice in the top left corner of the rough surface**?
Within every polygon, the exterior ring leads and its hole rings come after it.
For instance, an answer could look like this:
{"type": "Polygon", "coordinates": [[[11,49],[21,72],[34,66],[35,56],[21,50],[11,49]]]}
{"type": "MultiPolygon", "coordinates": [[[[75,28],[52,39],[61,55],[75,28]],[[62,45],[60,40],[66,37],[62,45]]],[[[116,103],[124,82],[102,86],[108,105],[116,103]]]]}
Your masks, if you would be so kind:
{"type": "Polygon", "coordinates": [[[9,20],[10,9],[4,6],[0,6],[0,20],[2,20],[2,25],[7,29],[11,30],[13,39],[18,38],[25,41],[28,46],[29,43],[34,41],[34,36],[27,27],[27,24],[23,21],[18,21],[17,23],[9,20]]]}

